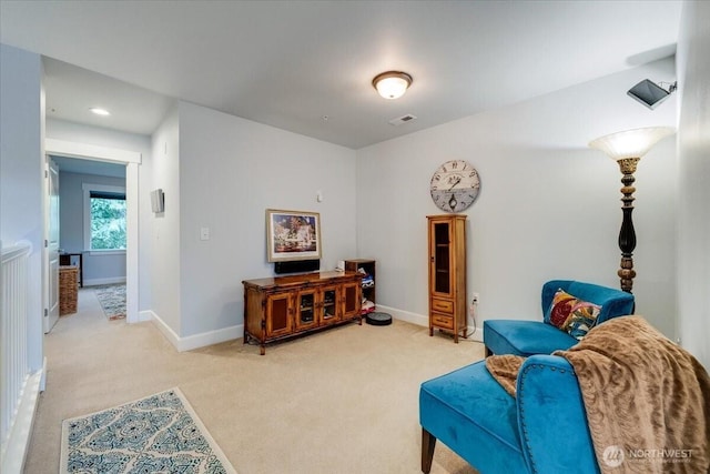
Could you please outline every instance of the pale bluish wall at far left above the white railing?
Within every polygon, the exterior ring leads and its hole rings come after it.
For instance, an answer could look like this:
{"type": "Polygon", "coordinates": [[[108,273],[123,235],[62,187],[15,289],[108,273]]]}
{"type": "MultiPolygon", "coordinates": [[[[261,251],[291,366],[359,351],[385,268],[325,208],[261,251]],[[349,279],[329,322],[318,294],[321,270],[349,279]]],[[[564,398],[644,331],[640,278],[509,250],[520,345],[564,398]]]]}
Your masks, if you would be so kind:
{"type": "Polygon", "coordinates": [[[38,54],[0,44],[0,240],[32,244],[29,260],[28,351],[42,367],[44,94],[38,54]],[[30,210],[28,212],[28,210],[30,210]]]}

